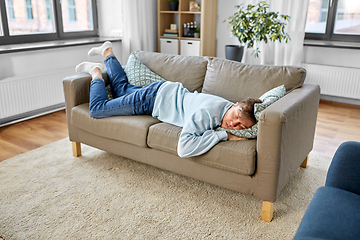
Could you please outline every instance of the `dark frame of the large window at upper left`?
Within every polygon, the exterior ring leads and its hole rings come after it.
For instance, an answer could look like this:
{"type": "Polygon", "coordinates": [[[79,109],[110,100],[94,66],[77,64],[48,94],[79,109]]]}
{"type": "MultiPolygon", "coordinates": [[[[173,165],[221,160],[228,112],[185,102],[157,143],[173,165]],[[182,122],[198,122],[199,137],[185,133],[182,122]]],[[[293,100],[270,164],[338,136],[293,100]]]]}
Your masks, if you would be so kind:
{"type": "Polygon", "coordinates": [[[35,33],[35,34],[24,34],[24,35],[13,35],[9,33],[9,24],[7,18],[7,9],[5,1],[0,1],[0,17],[2,24],[2,33],[0,35],[0,45],[8,44],[19,44],[19,43],[34,43],[42,41],[55,41],[55,40],[67,40],[87,37],[98,37],[98,17],[97,17],[97,0],[90,0],[92,4],[92,23],[93,30],[86,31],[74,31],[64,32],[63,19],[61,12],[61,1],[64,0],[53,0],[53,18],[54,18],[54,29],[53,33],[35,33]]]}

